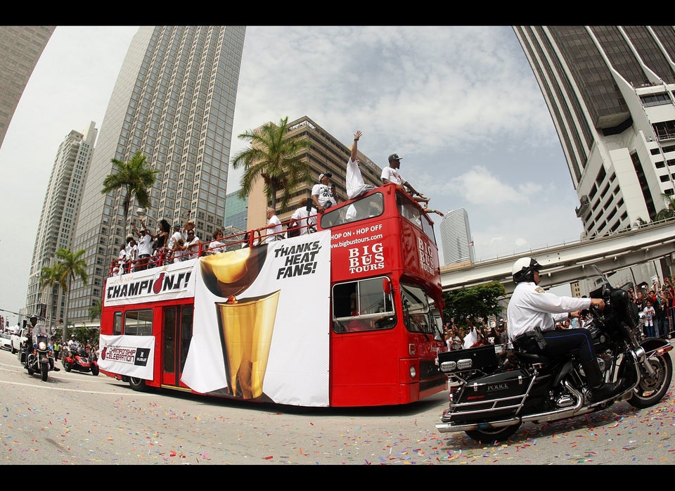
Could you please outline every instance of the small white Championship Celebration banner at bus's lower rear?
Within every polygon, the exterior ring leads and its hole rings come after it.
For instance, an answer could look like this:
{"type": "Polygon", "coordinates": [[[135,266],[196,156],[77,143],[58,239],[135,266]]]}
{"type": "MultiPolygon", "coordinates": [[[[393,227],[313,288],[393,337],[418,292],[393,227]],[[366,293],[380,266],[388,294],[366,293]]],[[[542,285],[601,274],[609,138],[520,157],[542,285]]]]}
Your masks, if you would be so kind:
{"type": "Polygon", "coordinates": [[[98,367],[114,374],[153,379],[155,336],[99,337],[98,367]]]}

